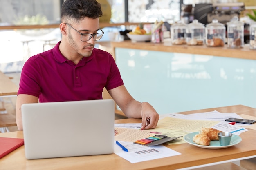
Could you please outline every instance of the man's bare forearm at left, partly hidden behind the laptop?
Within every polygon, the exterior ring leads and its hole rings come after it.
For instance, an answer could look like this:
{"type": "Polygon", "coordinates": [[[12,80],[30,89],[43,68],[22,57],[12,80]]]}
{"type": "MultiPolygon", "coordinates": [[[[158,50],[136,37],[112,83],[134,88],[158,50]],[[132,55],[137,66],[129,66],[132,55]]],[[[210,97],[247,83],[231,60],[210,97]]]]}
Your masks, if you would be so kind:
{"type": "Polygon", "coordinates": [[[38,103],[38,97],[32,95],[20,94],[16,100],[16,124],[18,130],[23,130],[22,117],[21,117],[21,105],[25,103],[38,103]]]}

